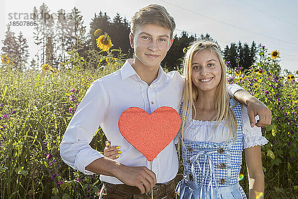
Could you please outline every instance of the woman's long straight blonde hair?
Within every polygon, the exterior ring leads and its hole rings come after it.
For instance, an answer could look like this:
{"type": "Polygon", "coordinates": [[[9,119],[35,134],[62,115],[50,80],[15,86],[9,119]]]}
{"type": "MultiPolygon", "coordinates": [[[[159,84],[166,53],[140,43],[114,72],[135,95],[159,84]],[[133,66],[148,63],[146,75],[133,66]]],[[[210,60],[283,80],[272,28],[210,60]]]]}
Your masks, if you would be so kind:
{"type": "MultiPolygon", "coordinates": [[[[214,130],[218,127],[220,122],[225,119],[224,126],[227,125],[228,129],[230,130],[229,136],[233,133],[236,136],[237,132],[237,120],[234,112],[230,109],[230,98],[228,96],[226,90],[226,69],[224,64],[224,58],[222,56],[220,47],[213,41],[210,40],[195,40],[192,42],[190,48],[188,49],[187,53],[184,57],[184,94],[183,94],[183,106],[182,106],[182,119],[181,119],[181,135],[182,135],[182,142],[183,142],[183,129],[184,125],[187,122],[187,117],[191,112],[192,106],[195,109],[195,117],[196,117],[196,106],[195,101],[198,98],[198,90],[197,87],[192,82],[192,58],[193,56],[201,51],[201,50],[210,50],[214,51],[220,60],[221,68],[222,68],[222,78],[219,84],[219,87],[216,92],[216,99],[215,99],[215,110],[216,114],[212,120],[217,121],[214,130]]],[[[191,115],[192,117],[192,115],[191,115]]]]}

